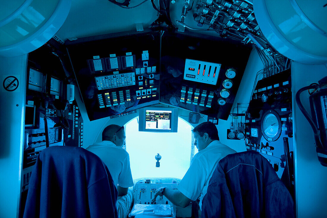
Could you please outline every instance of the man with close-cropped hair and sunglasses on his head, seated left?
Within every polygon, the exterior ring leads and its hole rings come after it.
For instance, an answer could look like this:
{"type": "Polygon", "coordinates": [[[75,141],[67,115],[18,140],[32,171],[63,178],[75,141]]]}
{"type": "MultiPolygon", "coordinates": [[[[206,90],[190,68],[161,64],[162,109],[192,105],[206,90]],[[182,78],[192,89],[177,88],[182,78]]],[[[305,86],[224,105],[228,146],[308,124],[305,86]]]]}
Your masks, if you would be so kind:
{"type": "Polygon", "coordinates": [[[86,150],[99,156],[109,169],[118,191],[116,203],[118,217],[127,217],[132,203],[132,192],[128,188],[134,185],[130,171],[129,154],[122,148],[125,143],[124,126],[112,124],[103,130],[102,142],[86,148],[86,150]]]}

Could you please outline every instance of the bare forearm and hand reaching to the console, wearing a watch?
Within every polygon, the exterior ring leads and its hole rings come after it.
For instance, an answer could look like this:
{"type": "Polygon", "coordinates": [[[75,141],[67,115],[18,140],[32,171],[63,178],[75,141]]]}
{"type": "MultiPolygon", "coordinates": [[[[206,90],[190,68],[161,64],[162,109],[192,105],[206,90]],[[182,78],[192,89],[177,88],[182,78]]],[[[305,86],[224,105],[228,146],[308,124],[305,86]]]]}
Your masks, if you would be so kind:
{"type": "Polygon", "coordinates": [[[163,194],[160,192],[160,189],[157,190],[156,194],[154,195],[154,198],[152,199],[152,202],[156,201],[157,196],[165,196],[171,203],[173,203],[176,206],[180,206],[182,208],[185,208],[187,205],[191,203],[191,200],[186,197],[182,192],[179,190],[172,190],[169,188],[164,189],[163,194]]]}

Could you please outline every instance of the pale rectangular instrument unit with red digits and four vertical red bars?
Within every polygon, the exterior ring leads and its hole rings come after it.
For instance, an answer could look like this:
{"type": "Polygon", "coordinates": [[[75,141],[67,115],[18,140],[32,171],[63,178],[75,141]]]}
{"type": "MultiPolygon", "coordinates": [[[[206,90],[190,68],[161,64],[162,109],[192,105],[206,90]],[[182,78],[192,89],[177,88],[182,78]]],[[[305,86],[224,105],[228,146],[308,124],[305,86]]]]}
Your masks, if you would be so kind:
{"type": "Polygon", "coordinates": [[[184,80],[216,85],[221,64],[186,59],[184,80]]]}

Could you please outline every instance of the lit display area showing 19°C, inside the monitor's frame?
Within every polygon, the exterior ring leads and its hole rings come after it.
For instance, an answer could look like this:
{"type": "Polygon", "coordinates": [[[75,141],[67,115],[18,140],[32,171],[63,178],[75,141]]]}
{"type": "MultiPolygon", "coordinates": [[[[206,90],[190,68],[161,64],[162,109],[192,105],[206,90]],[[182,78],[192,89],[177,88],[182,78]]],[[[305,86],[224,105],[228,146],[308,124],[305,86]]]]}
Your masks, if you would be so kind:
{"type": "Polygon", "coordinates": [[[171,114],[169,110],[146,110],[146,129],[171,130],[171,114]]]}

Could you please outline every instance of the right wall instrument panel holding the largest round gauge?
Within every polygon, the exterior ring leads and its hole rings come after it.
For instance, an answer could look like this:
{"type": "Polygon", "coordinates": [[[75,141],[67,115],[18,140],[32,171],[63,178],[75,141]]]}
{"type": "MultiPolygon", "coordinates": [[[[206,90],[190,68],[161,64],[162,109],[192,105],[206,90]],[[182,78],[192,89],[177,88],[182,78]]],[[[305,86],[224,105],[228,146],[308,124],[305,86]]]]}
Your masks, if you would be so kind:
{"type": "MultiPolygon", "coordinates": [[[[258,81],[246,113],[245,144],[247,150],[266,157],[279,177],[286,169],[285,155],[291,158],[293,152],[292,121],[290,70],[258,81]],[[286,154],[286,146],[289,154],[286,154]]],[[[293,172],[293,161],[288,162],[289,171],[293,172]]]]}

